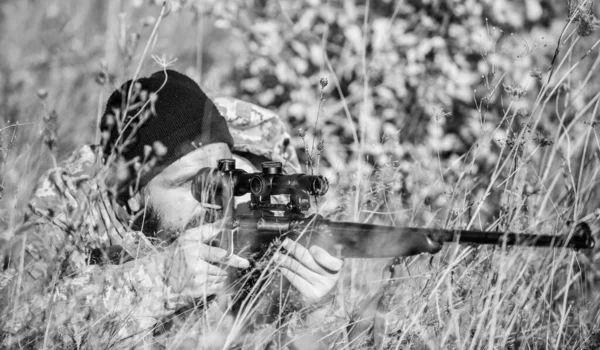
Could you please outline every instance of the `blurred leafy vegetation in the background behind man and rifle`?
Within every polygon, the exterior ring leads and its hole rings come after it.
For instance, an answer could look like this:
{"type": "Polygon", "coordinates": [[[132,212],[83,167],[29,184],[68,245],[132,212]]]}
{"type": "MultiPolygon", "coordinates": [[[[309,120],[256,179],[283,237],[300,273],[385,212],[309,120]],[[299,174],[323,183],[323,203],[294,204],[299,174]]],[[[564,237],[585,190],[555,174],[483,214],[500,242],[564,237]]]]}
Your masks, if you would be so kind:
{"type": "MultiPolygon", "coordinates": [[[[412,212],[399,214],[404,221],[430,222],[436,218],[431,213],[447,214],[449,205],[462,208],[453,214],[462,215],[482,198],[503,143],[530,123],[567,21],[580,41],[570,51],[573,60],[597,37],[591,34],[598,4],[590,1],[168,4],[2,2],[0,207],[5,215],[0,217],[9,222],[5,226],[19,220],[31,191],[28,179],[51,165],[41,147],[43,130],[57,124],[58,159],[79,144],[93,143],[108,94],[140,64],[141,75],[160,69],[149,55],[171,62],[212,96],[255,102],[276,110],[293,134],[306,130],[305,142],[294,140],[302,159],[311,153],[304,145],[312,144],[313,135],[323,140],[320,171],[340,185],[339,198],[344,189],[362,188],[355,176],[378,176],[394,181],[363,187],[375,199],[399,198],[397,205],[412,212]],[[583,10],[573,18],[579,5],[583,10]],[[163,6],[168,14],[142,58],[163,6]],[[328,81],[324,88],[321,78],[328,81]],[[516,113],[510,122],[508,109],[516,113]],[[462,203],[452,199],[457,186],[468,192],[462,203]]],[[[554,132],[598,91],[595,75],[585,91],[570,94],[594,57],[560,82],[529,146],[550,145],[554,132]]],[[[539,190],[535,179],[531,182],[532,191],[539,190]]],[[[501,195],[489,194],[479,213],[484,226],[502,210],[501,195]]],[[[379,201],[343,203],[336,201],[338,212],[354,218],[361,207],[384,209],[379,201]]]]}

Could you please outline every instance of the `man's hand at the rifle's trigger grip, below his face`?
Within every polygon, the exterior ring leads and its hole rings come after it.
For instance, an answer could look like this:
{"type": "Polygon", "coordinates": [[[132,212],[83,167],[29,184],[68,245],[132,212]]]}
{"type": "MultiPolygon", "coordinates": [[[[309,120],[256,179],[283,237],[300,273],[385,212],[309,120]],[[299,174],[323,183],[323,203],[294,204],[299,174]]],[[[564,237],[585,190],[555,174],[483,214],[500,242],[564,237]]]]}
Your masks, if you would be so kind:
{"type": "Polygon", "coordinates": [[[221,221],[183,232],[165,262],[168,284],[180,296],[199,298],[222,290],[227,272],[212,263],[248,268],[250,262],[237,255],[225,260],[227,251],[208,244],[221,231],[221,221]]]}

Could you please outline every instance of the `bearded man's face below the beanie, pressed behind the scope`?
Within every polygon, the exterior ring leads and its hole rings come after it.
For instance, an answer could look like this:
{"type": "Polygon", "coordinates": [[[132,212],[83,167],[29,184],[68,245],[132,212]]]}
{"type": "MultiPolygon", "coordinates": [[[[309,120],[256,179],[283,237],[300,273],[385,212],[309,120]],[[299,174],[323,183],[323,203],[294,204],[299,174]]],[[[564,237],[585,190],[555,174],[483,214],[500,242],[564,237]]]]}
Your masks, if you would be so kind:
{"type": "Polygon", "coordinates": [[[231,157],[225,143],[202,146],[169,165],[146,185],[142,202],[148,206],[148,220],[155,221],[159,237],[167,238],[165,235],[203,222],[206,209],[192,196],[192,179],[198,170],[216,168],[219,159],[231,157]]]}

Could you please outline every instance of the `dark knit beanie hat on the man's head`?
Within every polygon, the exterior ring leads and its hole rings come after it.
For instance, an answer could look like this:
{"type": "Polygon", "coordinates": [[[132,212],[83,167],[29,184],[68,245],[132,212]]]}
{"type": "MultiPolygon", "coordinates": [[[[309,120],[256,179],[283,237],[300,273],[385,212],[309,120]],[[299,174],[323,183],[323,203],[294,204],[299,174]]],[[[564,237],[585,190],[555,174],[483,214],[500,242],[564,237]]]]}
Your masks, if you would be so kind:
{"type": "MultiPolygon", "coordinates": [[[[138,177],[137,189],[202,145],[224,142],[230,149],[233,147],[227,123],[214,103],[196,82],[173,70],[129,80],[114,91],[106,104],[100,130],[104,160],[118,153],[114,159],[124,160],[134,168],[130,177],[136,178],[134,173],[140,165],[153,158],[152,166],[138,177]]],[[[131,189],[120,188],[118,199],[127,200],[132,194],[131,189]]]]}

